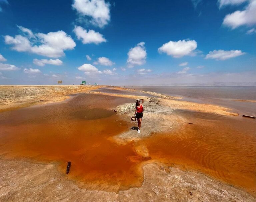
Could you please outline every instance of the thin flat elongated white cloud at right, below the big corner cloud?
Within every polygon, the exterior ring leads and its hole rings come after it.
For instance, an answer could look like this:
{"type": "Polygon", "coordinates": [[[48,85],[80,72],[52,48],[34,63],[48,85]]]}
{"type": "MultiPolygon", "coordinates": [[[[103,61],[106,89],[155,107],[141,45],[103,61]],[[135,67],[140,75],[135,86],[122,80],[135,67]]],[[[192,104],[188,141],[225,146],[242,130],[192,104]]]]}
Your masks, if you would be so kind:
{"type": "Polygon", "coordinates": [[[229,58],[234,58],[240,55],[244,55],[241,50],[230,50],[230,51],[225,51],[225,50],[214,50],[210,51],[205,59],[215,59],[215,60],[227,60],[229,58]]]}

